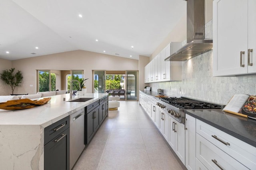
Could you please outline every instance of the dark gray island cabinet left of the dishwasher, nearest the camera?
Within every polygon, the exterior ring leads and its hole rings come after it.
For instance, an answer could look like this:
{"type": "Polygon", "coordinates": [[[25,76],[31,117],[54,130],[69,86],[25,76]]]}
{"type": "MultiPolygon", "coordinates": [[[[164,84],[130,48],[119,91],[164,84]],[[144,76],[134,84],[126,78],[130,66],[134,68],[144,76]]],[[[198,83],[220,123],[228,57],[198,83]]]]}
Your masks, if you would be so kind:
{"type": "Polygon", "coordinates": [[[44,170],[69,170],[69,116],[44,128],[44,170]]]}

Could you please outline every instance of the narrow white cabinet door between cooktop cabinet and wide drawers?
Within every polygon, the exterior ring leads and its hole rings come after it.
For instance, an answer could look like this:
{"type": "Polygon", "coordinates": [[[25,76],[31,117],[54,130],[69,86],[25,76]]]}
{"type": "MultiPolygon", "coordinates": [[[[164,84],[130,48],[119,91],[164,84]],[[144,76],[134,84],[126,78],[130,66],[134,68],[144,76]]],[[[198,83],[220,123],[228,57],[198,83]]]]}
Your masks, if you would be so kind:
{"type": "Polygon", "coordinates": [[[186,168],[196,169],[196,118],[186,114],[185,119],[186,139],[186,168]]]}

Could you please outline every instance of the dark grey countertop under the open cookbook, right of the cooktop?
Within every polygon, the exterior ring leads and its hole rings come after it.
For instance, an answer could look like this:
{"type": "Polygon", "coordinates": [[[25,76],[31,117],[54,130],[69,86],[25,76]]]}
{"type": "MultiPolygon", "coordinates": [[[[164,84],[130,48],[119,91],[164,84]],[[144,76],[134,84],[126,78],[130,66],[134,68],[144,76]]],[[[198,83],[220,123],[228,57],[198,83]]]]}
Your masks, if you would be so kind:
{"type": "Polygon", "coordinates": [[[184,111],[186,114],[256,147],[256,120],[226,113],[221,109],[184,111]]]}

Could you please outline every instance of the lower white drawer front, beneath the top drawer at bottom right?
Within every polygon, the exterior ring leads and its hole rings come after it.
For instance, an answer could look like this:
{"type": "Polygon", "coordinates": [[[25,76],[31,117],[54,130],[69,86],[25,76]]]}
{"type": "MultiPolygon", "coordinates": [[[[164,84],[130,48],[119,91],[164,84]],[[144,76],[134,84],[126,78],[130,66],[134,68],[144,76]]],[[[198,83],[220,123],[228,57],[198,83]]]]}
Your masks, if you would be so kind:
{"type": "Polygon", "coordinates": [[[200,134],[196,134],[196,158],[198,158],[208,170],[248,170],[248,168],[206,140],[200,134]]]}

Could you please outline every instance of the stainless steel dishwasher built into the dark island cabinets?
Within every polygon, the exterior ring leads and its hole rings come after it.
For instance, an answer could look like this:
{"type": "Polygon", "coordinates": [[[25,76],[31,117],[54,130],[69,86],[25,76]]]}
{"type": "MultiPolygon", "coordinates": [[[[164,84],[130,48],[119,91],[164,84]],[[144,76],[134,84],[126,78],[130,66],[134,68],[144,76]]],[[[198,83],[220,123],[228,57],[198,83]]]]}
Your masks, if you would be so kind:
{"type": "Polygon", "coordinates": [[[84,109],[81,109],[70,115],[70,170],[84,147],[84,109]]]}

